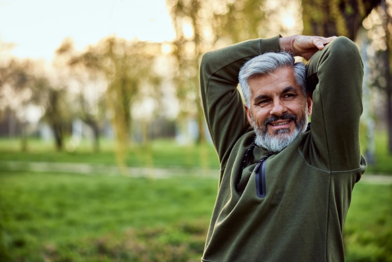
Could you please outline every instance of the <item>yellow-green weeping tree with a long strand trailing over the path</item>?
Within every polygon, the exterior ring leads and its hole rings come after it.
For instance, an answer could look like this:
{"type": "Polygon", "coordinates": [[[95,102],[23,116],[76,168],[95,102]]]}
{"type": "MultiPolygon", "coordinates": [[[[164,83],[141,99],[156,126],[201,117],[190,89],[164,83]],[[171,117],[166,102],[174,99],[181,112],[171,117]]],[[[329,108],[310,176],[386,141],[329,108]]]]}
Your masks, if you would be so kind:
{"type": "Polygon", "coordinates": [[[108,37],[69,59],[71,67],[82,66],[106,80],[105,100],[112,114],[120,163],[129,143],[132,105],[143,97],[144,89],[159,93],[160,80],[153,66],[160,50],[160,44],[108,37]]]}

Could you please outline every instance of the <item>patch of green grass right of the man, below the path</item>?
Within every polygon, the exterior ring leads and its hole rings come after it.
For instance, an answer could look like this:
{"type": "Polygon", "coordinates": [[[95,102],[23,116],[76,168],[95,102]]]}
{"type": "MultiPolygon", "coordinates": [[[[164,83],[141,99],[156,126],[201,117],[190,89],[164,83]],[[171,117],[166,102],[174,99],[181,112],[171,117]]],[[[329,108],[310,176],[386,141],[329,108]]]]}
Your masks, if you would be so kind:
{"type": "Polygon", "coordinates": [[[344,224],[346,261],[392,262],[392,185],[358,183],[344,224]]]}

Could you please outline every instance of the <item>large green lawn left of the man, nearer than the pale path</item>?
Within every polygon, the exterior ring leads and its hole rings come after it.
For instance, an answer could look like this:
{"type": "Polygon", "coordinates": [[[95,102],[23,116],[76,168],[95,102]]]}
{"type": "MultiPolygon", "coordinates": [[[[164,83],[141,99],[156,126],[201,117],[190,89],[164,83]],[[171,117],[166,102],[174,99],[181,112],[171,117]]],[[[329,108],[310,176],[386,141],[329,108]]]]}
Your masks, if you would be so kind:
{"type": "Polygon", "coordinates": [[[217,181],[2,172],[0,257],[199,260],[217,181]]]}

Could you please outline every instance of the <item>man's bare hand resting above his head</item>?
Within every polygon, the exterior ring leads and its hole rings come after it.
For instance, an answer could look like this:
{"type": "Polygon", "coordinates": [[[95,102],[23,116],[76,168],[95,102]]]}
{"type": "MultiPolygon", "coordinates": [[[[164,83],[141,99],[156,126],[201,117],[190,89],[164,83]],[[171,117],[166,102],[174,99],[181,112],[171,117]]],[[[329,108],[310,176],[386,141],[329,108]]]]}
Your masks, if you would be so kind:
{"type": "Polygon", "coordinates": [[[331,43],[335,38],[336,36],[325,38],[321,36],[293,35],[279,38],[279,44],[282,50],[309,60],[313,54],[324,49],[324,46],[331,43]]]}

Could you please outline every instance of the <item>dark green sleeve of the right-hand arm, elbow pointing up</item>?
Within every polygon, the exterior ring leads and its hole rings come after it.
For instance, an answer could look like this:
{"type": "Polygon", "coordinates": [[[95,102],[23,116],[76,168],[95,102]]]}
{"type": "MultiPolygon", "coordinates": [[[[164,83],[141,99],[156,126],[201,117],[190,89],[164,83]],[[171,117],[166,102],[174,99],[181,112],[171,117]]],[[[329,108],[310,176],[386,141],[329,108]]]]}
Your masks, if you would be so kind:
{"type": "Polygon", "coordinates": [[[309,60],[307,77],[315,88],[310,161],[331,171],[358,168],[363,64],[357,46],[345,37],[333,40],[309,60]]]}

